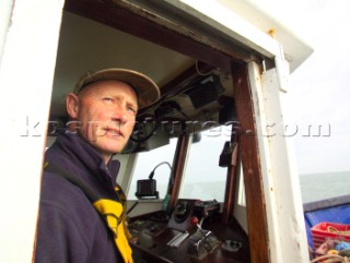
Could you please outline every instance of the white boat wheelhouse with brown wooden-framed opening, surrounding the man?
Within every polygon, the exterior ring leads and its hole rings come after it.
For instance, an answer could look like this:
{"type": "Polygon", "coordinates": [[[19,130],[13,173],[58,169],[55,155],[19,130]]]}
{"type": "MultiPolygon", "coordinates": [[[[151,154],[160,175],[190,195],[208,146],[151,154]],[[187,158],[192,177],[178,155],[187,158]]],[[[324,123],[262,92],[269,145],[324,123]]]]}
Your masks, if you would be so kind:
{"type": "MultiPolygon", "coordinates": [[[[21,13],[30,10],[26,3],[11,5],[0,71],[8,87],[1,87],[1,113],[5,98],[22,96],[19,111],[5,118],[19,132],[1,139],[8,145],[12,138],[24,162],[16,167],[3,159],[13,175],[3,186],[16,186],[20,175],[26,186],[7,208],[27,202],[21,262],[31,259],[35,240],[43,153],[68,121],[65,97],[83,73],[105,68],[140,71],[161,89],[115,156],[131,246],[142,260],[308,262],[298,171],[284,134],[288,77],[312,52],[303,40],[257,1],[38,2],[35,20],[21,13]],[[22,50],[15,44],[23,40],[22,50]]],[[[19,234],[15,220],[4,224],[19,234]]],[[[3,262],[18,259],[13,243],[2,247],[10,251],[3,262]]]]}

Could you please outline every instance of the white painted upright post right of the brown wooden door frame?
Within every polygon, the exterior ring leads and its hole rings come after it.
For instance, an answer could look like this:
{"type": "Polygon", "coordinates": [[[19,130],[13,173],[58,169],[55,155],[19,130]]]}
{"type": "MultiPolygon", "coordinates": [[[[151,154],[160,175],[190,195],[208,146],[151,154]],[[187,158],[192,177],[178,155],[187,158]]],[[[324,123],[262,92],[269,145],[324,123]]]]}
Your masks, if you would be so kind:
{"type": "Polygon", "coordinates": [[[284,130],[290,124],[288,93],[281,91],[280,83],[287,79],[279,77],[278,72],[287,69],[271,69],[260,75],[260,69],[249,63],[270,259],[271,263],[306,263],[310,260],[299,174],[290,142],[293,133],[284,130]]]}

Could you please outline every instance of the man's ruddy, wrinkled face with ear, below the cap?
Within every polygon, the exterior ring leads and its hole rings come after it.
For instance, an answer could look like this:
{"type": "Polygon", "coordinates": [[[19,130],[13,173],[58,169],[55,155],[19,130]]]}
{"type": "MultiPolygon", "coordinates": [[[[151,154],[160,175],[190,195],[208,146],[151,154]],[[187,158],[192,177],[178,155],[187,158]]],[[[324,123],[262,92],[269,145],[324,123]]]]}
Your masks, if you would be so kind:
{"type": "Polygon", "coordinates": [[[132,87],[119,81],[101,81],[67,97],[67,111],[75,129],[105,162],[125,147],[131,135],[138,98],[132,87]]]}

